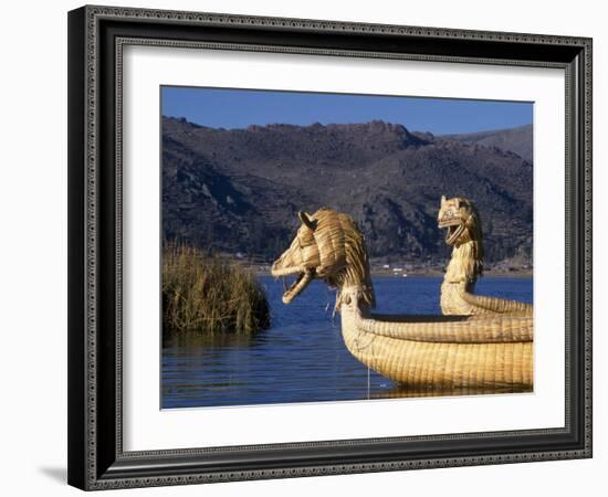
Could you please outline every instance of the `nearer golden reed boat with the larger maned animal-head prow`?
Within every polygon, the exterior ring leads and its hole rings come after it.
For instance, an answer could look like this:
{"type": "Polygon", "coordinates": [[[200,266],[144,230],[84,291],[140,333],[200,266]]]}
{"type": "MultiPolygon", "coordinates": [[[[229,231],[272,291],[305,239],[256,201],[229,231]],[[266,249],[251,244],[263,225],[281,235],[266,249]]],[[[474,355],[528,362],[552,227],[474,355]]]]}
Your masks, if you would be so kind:
{"type": "Polygon", "coordinates": [[[283,303],[292,303],[315,278],[335,288],[344,342],[360,362],[412,389],[532,389],[533,317],[527,309],[374,314],[367,248],[355,221],[326,208],[298,218],[296,236],[272,265],[275,277],[295,276],[283,303]]]}

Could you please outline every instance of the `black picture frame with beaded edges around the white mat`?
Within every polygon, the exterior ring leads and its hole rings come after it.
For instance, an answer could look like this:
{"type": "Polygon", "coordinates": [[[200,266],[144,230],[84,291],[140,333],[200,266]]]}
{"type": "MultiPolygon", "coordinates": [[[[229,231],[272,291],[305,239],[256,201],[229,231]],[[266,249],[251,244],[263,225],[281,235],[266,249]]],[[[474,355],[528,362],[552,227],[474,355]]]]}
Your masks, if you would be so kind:
{"type": "Polygon", "coordinates": [[[88,6],[69,13],[71,485],[92,490],[584,457],[591,457],[590,39],[88,6]],[[124,452],[119,119],[122,47],[129,43],[564,68],[565,426],[124,452]]]}

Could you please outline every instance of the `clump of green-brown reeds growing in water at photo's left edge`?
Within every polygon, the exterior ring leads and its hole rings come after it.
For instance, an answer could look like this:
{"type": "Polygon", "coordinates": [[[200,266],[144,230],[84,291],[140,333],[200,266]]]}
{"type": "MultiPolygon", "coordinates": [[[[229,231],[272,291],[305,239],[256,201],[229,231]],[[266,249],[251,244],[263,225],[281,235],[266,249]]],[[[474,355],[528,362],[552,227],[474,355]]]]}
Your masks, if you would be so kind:
{"type": "Polygon", "coordinates": [[[251,335],[269,327],[269,303],[252,272],[196,247],[165,246],[165,336],[184,332],[251,335]]]}

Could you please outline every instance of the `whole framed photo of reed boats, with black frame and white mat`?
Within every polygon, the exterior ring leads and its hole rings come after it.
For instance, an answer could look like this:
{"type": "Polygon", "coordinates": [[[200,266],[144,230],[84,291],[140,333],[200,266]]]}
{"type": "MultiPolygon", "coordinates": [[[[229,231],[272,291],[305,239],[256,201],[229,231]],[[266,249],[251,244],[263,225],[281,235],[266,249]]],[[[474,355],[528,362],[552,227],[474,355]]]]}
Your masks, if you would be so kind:
{"type": "Polygon", "coordinates": [[[591,456],[591,40],[69,14],[69,482],[591,456]]]}

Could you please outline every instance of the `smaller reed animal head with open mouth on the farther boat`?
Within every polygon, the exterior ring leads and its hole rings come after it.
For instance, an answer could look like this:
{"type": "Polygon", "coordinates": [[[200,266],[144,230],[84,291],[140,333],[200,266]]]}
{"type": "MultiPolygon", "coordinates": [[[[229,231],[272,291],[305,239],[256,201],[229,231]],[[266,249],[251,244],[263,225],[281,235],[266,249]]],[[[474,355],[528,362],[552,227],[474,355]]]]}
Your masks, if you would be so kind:
{"type": "Polygon", "coordinates": [[[440,229],[445,229],[445,243],[450,246],[460,247],[465,245],[468,260],[472,267],[467,273],[475,278],[483,271],[483,243],[481,218],[479,212],[469,199],[454,197],[445,199],[441,197],[441,205],[437,221],[440,229]]]}

